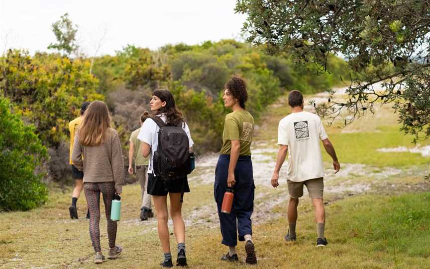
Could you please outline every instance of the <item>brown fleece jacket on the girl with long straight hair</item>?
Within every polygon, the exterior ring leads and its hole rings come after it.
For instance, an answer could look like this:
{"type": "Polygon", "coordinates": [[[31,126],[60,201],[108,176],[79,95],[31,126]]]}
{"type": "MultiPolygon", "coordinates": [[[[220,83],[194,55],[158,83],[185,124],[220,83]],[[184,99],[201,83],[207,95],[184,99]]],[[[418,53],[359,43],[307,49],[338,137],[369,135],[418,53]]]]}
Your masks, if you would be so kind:
{"type": "Polygon", "coordinates": [[[75,135],[72,162],[84,171],[84,183],[113,182],[115,192],[122,192],[124,182],[124,160],[118,133],[109,128],[106,141],[97,146],[84,146],[79,142],[79,131],[75,135]],[[84,157],[84,159],[82,159],[84,157]]]}

